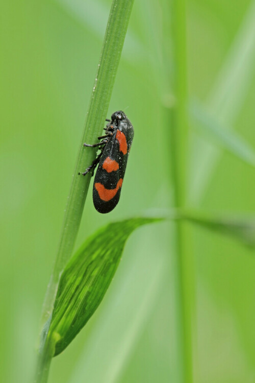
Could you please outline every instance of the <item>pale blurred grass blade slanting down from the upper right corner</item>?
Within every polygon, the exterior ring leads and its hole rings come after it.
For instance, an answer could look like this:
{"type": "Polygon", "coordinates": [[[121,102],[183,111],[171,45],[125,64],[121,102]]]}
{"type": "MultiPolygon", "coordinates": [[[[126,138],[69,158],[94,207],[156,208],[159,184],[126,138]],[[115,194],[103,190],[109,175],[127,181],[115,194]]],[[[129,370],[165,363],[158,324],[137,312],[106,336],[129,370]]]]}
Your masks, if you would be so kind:
{"type": "MultiPolygon", "coordinates": [[[[244,16],[241,27],[232,44],[214,89],[209,95],[207,107],[212,115],[226,127],[234,125],[235,119],[245,102],[255,67],[255,1],[244,16]]],[[[211,174],[219,160],[220,151],[209,143],[196,151],[193,165],[189,201],[197,204],[205,193],[211,174]]]]}

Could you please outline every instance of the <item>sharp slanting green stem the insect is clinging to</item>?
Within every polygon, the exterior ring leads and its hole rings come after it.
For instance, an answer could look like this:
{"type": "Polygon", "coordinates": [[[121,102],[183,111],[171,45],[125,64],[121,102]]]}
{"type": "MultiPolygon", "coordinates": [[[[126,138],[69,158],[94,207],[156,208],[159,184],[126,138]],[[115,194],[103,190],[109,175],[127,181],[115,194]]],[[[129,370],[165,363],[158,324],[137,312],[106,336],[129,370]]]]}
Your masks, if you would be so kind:
{"type": "MultiPolygon", "coordinates": [[[[85,128],[67,199],[59,248],[44,299],[41,324],[44,324],[52,313],[59,278],[72,254],[78,234],[91,178],[90,175],[87,177],[79,176],[79,172],[83,172],[96,156],[96,149],[84,148],[83,143],[97,142],[97,137],[103,132],[133,3],[134,0],[113,0],[112,2],[85,128]]],[[[36,382],[47,380],[46,375],[51,357],[48,358],[45,347],[39,352],[36,382]]]]}

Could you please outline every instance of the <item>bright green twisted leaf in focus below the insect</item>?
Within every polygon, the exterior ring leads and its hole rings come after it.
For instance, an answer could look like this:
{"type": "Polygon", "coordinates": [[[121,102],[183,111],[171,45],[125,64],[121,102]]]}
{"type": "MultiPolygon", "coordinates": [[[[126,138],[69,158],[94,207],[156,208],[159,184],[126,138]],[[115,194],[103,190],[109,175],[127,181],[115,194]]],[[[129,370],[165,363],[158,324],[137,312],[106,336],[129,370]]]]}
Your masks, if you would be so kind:
{"type": "Polygon", "coordinates": [[[160,220],[134,218],[111,223],[90,236],[70,259],[60,278],[47,336],[55,343],[54,356],[68,346],[95,312],[129,235],[141,225],[160,220]]]}

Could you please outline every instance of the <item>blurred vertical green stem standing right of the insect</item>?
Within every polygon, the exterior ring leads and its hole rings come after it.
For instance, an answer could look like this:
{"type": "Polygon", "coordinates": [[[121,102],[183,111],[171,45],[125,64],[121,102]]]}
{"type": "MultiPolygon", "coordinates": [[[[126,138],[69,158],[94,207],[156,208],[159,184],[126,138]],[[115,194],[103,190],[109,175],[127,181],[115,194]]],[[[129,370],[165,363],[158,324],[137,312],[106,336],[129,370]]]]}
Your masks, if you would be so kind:
{"type": "MultiPolygon", "coordinates": [[[[186,6],[185,0],[174,0],[172,21],[172,89],[175,103],[169,108],[171,121],[171,152],[173,164],[174,206],[186,207],[188,123],[187,123],[187,68],[186,68],[186,6]]],[[[169,33],[168,33],[169,36],[169,33]]],[[[169,45],[169,41],[168,41],[169,45]]],[[[187,222],[176,221],[176,322],[179,334],[180,380],[192,383],[192,252],[190,227],[187,222]]]]}

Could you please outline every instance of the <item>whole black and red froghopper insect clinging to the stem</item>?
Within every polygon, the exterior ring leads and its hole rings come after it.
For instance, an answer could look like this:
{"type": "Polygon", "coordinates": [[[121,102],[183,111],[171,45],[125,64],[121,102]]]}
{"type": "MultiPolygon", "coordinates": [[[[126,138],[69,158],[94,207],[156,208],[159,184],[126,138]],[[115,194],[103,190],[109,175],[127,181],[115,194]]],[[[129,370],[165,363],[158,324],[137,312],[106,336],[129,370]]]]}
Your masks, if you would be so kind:
{"type": "MultiPolygon", "coordinates": [[[[134,128],[121,110],[111,116],[111,121],[104,128],[104,136],[98,137],[101,141],[85,147],[98,147],[100,153],[92,164],[86,169],[83,176],[92,172],[98,164],[93,184],[93,203],[99,213],[109,213],[119,202],[121,186],[129,157],[134,128]]],[[[80,173],[79,173],[80,174],[80,173]]]]}

